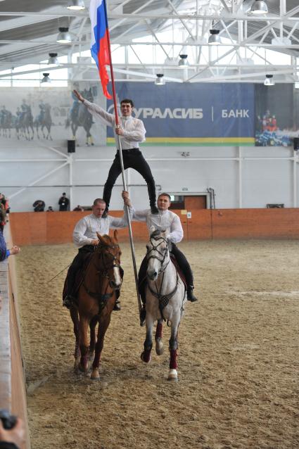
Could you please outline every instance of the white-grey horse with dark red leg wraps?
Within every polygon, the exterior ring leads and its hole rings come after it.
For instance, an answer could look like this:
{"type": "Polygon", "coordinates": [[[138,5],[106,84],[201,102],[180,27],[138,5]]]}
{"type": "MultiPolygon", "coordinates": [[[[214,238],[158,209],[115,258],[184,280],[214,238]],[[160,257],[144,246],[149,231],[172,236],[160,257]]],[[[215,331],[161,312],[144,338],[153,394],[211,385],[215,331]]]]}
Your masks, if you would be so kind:
{"type": "Polygon", "coordinates": [[[170,370],[168,380],[177,380],[177,331],[181,321],[186,291],[177,268],[170,259],[171,243],[165,238],[165,232],[154,231],[151,234],[147,248],[147,286],[146,286],[146,340],[141,360],[148,363],[151,360],[153,347],[153,323],[158,320],[155,331],[155,352],[163,354],[163,320],[171,322],[170,336],[170,370]]]}

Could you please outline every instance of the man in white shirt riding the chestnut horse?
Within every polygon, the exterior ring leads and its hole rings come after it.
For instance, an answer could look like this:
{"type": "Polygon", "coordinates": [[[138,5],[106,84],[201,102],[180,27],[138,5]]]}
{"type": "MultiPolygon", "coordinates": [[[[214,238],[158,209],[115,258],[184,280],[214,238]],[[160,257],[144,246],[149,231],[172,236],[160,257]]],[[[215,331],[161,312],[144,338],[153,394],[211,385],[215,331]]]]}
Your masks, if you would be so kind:
{"type": "MultiPolygon", "coordinates": [[[[127,192],[124,192],[127,194],[127,192]]],[[[111,217],[110,215],[103,216],[106,210],[106,203],[101,198],[94,200],[92,206],[92,213],[83,217],[77,225],[75,225],[74,232],[72,234],[72,240],[75,246],[79,249],[75,259],[72,261],[68,269],[68,275],[66,278],[66,292],[63,297],[63,305],[70,308],[72,303],[76,300],[74,291],[76,276],[79,270],[84,267],[84,260],[86,260],[90,253],[93,253],[98,246],[98,234],[109,234],[109,229],[119,229],[127,227],[127,216],[122,215],[120,218],[111,217]]],[[[129,207],[130,219],[132,218],[132,208],[129,207]]],[[[116,301],[114,310],[120,310],[120,301],[116,301]]]]}

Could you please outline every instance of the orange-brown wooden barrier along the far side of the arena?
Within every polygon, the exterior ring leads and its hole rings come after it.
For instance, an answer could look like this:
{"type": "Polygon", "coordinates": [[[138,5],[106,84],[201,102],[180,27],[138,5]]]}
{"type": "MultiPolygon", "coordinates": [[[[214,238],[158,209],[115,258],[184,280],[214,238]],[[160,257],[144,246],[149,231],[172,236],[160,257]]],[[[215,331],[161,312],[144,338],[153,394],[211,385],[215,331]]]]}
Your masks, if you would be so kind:
{"type": "MultiPolygon", "coordinates": [[[[185,240],[210,239],[297,239],[299,209],[193,209],[191,217],[176,210],[185,240]]],[[[183,211],[184,212],[184,211],[183,211]]],[[[185,211],[186,212],[186,211],[185,211]]],[[[17,245],[63,244],[72,241],[76,222],[87,212],[11,213],[11,232],[17,245]]],[[[122,211],[112,211],[120,217],[122,211]]],[[[145,222],[132,222],[135,241],[147,241],[145,222]]],[[[129,239],[127,229],[119,230],[120,241],[129,239]]]]}

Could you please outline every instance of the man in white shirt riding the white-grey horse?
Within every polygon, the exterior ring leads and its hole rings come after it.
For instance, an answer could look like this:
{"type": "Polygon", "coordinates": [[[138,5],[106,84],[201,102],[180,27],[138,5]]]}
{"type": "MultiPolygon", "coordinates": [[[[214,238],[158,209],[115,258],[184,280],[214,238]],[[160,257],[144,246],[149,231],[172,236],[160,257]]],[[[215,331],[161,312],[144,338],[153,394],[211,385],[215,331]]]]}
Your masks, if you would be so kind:
{"type": "MultiPolygon", "coordinates": [[[[125,204],[132,207],[131,201],[127,192],[122,192],[122,198],[124,198],[125,204]]],[[[179,215],[169,210],[170,208],[170,195],[163,193],[158,196],[158,215],[151,213],[151,210],[134,210],[133,208],[133,221],[146,222],[148,231],[151,234],[153,227],[158,231],[166,231],[166,239],[171,242],[171,253],[174,255],[180,269],[182,270],[187,284],[187,299],[192,303],[197,301],[196,296],[193,294],[193,273],[189,265],[188,260],[182,251],[177,248],[176,244],[182,241],[184,232],[182,228],[179,215]]],[[[141,320],[145,319],[145,288],[146,288],[146,269],[147,259],[142,260],[138,279],[139,279],[139,292],[144,303],[144,308],[141,310],[141,320]]]]}

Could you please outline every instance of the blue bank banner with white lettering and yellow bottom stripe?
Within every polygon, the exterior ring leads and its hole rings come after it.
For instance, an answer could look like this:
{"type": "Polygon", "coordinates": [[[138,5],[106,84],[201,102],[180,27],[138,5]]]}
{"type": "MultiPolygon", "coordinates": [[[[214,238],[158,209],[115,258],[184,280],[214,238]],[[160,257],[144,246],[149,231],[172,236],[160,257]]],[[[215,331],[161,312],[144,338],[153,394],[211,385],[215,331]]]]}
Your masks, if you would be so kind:
{"type": "MultiPolygon", "coordinates": [[[[117,97],[132,99],[144,122],[146,143],[254,145],[253,84],[117,82],[117,97]]],[[[113,113],[113,102],[108,101],[113,113]]],[[[108,143],[113,132],[108,128],[108,143]]]]}

